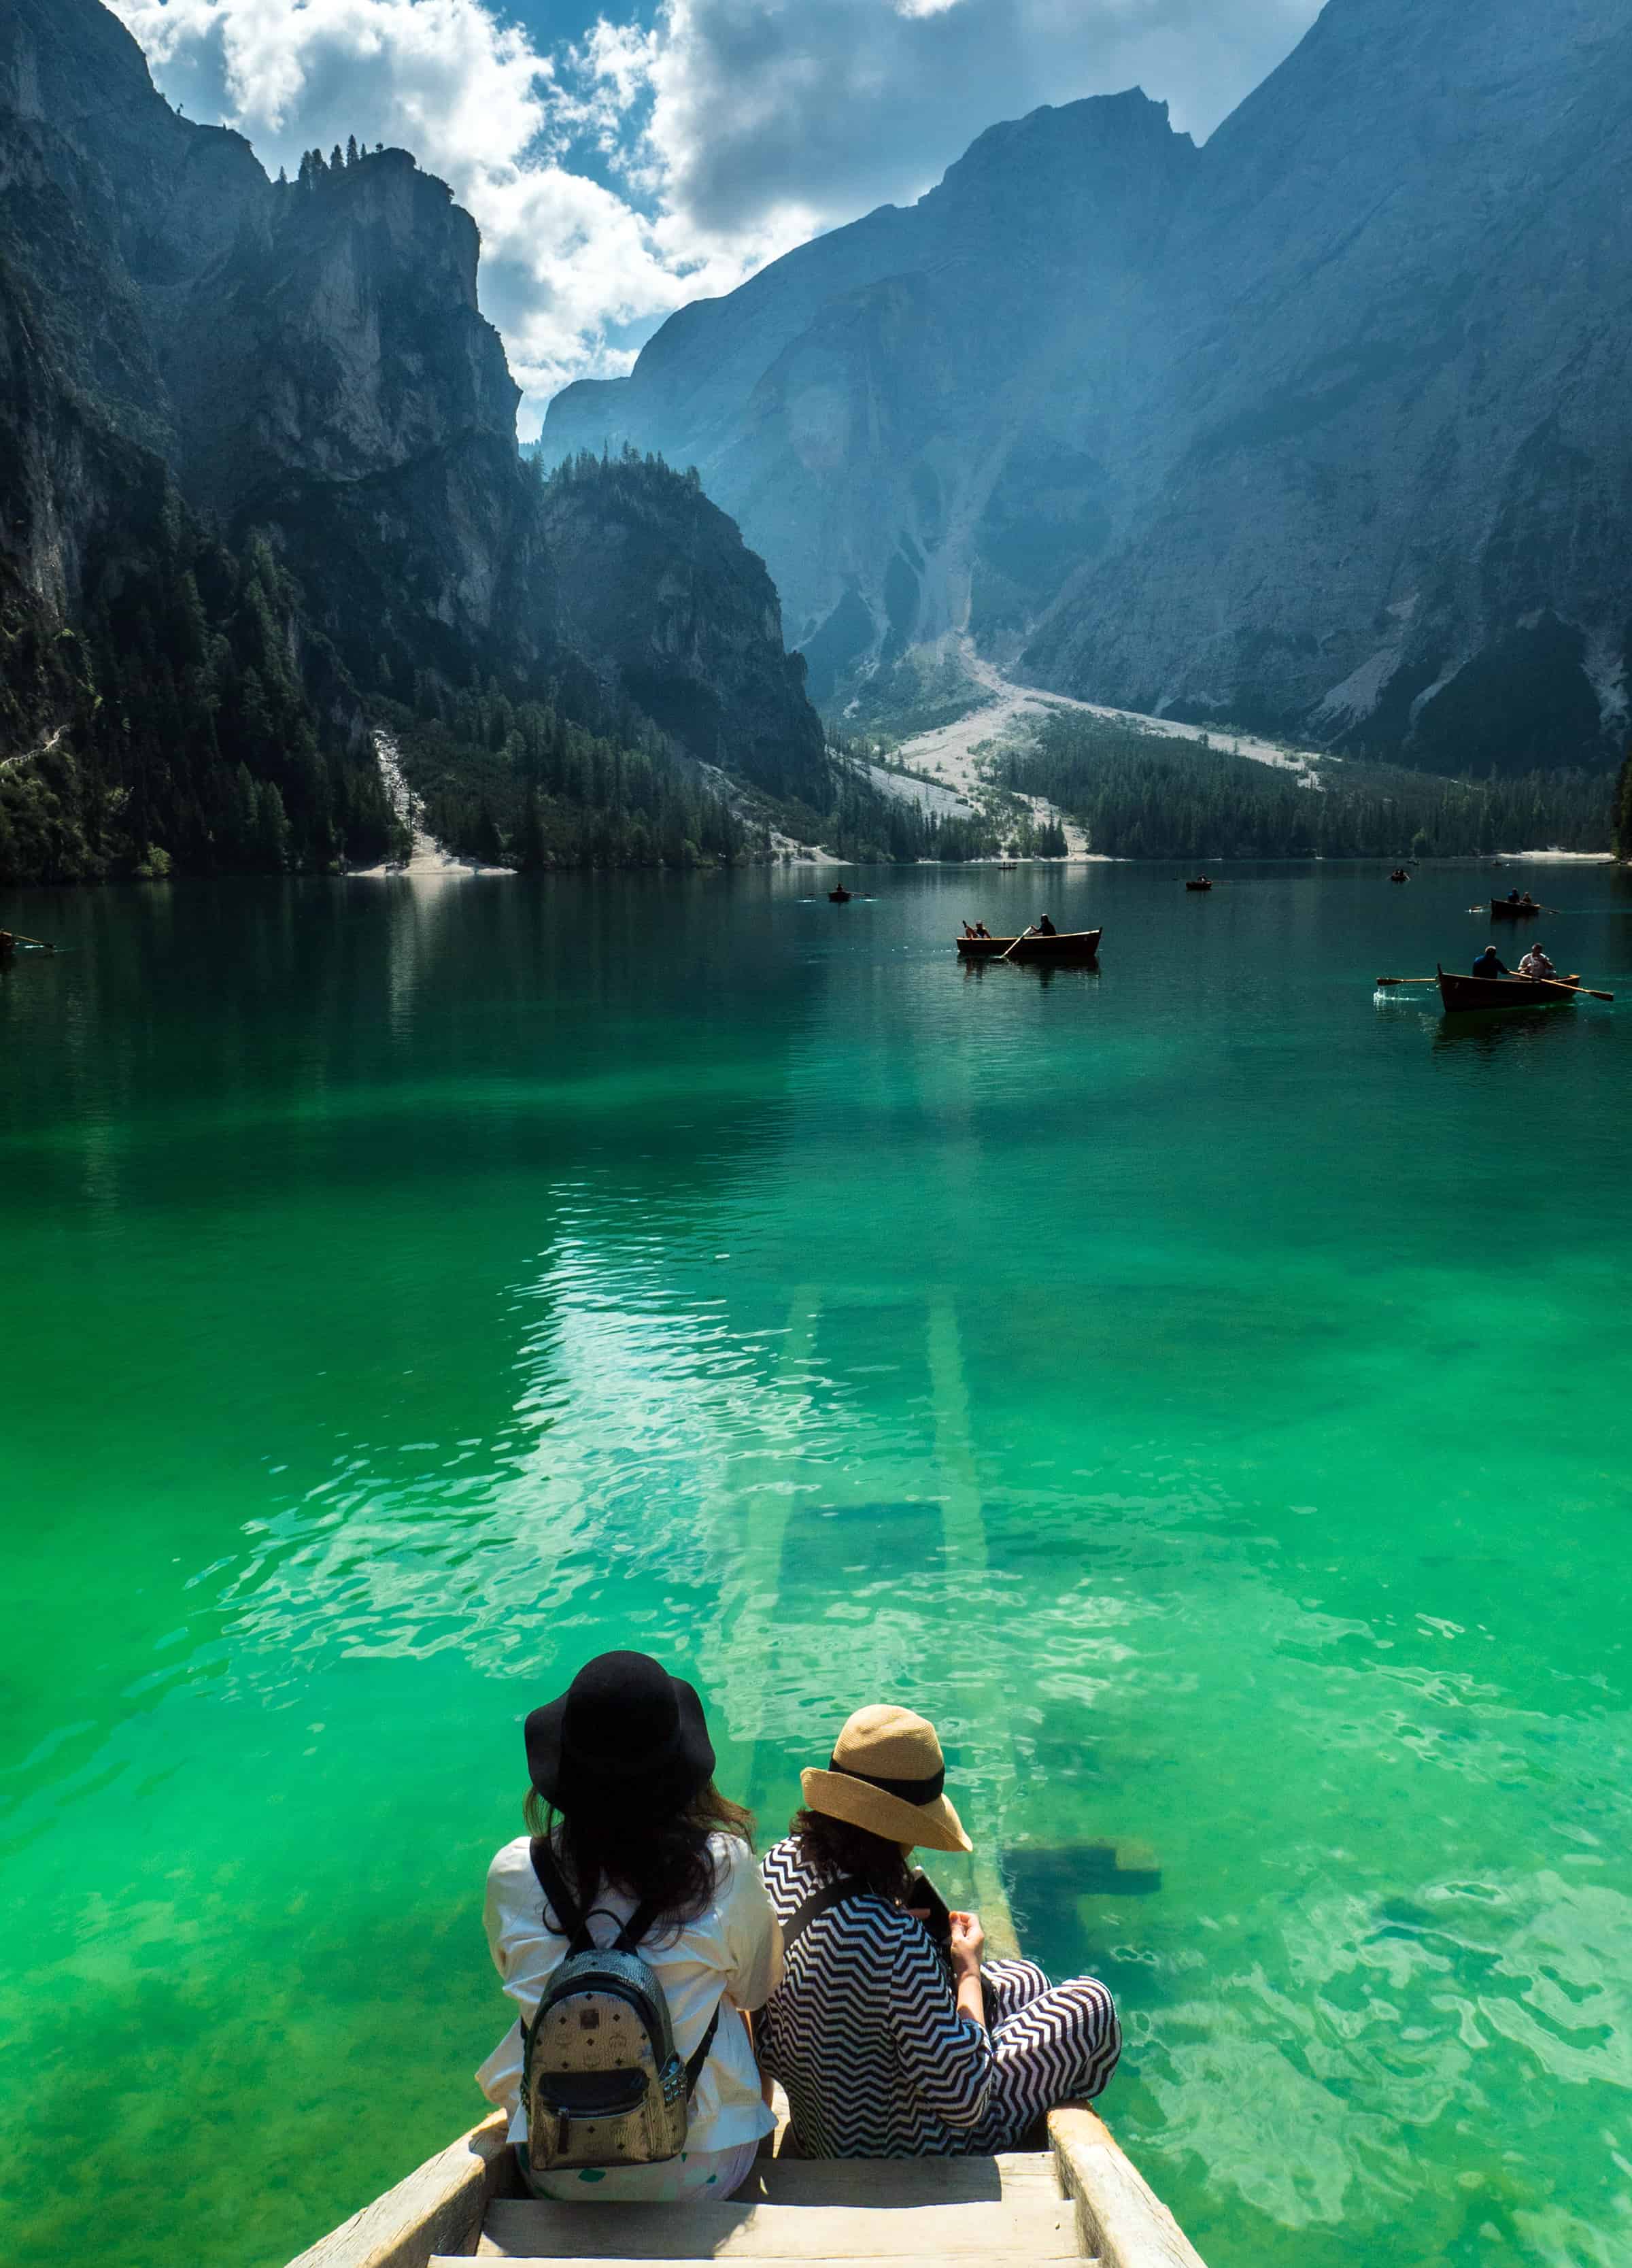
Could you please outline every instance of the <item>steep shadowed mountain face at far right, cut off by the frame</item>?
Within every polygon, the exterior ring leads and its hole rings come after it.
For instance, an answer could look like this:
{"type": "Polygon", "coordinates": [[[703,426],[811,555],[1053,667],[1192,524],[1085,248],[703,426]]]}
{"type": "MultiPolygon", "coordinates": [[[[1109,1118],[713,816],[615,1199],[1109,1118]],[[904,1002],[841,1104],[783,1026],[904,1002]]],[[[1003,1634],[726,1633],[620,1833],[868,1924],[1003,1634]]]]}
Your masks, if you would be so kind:
{"type": "Polygon", "coordinates": [[[1632,16],[1333,0],[1204,163],[1138,519],[1029,667],[1439,769],[1614,744],[1632,16]]]}

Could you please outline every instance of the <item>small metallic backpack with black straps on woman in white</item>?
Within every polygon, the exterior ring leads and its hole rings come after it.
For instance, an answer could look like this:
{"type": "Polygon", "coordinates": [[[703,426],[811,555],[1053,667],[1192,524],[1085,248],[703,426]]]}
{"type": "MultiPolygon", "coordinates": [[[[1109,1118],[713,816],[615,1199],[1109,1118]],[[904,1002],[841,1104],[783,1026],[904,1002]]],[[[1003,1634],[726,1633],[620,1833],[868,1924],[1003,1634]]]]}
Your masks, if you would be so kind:
{"type": "Polygon", "coordinates": [[[528,2166],[655,2166],[678,2157],[687,2105],[719,2030],[719,2003],[696,2055],[680,2062],[669,2000],[637,1946],[657,1914],[639,1905],[596,1946],[551,1846],[533,1839],[533,1873],[567,1937],[567,1960],[524,2028],[521,2107],[528,2166]]]}

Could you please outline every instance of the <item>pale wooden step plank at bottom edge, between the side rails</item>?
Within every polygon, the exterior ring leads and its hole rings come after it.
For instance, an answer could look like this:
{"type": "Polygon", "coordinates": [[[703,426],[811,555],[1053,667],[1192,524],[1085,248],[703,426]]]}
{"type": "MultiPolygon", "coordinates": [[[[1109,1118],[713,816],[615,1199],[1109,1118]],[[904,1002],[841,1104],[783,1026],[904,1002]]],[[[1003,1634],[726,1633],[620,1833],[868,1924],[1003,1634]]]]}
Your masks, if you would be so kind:
{"type": "Polygon", "coordinates": [[[496,2198],[481,2248],[496,2259],[1077,2259],[1077,2214],[1054,2198],[993,2204],[546,2204],[496,2198]]]}

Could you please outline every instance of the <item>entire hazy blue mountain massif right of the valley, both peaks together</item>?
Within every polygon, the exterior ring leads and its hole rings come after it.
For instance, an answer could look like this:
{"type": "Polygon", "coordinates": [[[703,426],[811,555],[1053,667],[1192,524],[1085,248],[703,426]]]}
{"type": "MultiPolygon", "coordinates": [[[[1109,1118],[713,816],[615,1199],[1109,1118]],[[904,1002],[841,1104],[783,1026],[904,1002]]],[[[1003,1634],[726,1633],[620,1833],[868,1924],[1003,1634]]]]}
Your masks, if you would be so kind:
{"type": "Polygon", "coordinates": [[[1630,186],[1621,0],[1331,0],[1204,150],[1142,95],[993,129],[569,388],[546,438],[694,460],[818,696],[968,628],[1124,705],[1600,760],[1630,186]]]}

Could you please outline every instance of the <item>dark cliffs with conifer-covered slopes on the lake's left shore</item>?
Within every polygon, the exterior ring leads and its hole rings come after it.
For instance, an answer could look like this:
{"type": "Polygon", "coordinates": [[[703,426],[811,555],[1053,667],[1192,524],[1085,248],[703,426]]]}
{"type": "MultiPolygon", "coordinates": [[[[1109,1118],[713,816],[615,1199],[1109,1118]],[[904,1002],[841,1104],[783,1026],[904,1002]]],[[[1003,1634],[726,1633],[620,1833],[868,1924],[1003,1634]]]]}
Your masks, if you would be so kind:
{"type": "Polygon", "coordinates": [[[270,181],[100,0],[0,0],[0,880],[374,862],[379,719],[530,864],[832,819],[764,565],[655,460],[519,460],[476,274],[408,152],[270,181]]]}

